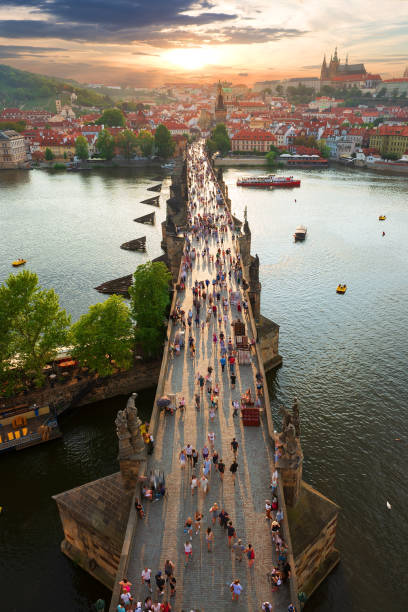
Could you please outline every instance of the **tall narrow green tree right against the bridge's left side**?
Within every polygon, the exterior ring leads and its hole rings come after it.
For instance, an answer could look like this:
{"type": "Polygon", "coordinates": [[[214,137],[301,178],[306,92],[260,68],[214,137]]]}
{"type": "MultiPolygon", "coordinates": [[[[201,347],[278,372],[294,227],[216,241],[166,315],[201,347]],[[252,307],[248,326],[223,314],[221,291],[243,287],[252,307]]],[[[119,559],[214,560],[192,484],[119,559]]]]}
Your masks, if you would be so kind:
{"type": "Polygon", "coordinates": [[[135,339],[147,356],[157,355],[164,339],[164,321],[170,302],[171,274],[161,261],[137,267],[129,288],[135,339]]]}

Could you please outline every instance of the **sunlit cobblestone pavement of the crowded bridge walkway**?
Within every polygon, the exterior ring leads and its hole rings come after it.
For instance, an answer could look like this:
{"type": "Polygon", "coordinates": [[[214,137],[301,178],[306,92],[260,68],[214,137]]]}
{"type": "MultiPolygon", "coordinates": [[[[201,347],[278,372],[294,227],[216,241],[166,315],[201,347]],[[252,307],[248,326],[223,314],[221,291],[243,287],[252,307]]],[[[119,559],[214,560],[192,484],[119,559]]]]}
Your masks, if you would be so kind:
{"type": "MultiPolygon", "coordinates": [[[[234,249],[231,233],[228,231],[224,248],[234,249]]],[[[211,242],[210,242],[211,248],[211,242]]],[[[213,243],[212,252],[216,247],[213,243]]],[[[191,286],[194,281],[212,279],[216,275],[215,265],[203,261],[193,267],[189,275],[181,307],[186,314],[193,309],[191,286]]],[[[232,277],[233,290],[237,285],[232,277]]],[[[203,308],[201,308],[203,311],[203,308]]],[[[201,312],[205,317],[205,312],[201,312]]],[[[233,337],[231,321],[238,318],[235,307],[229,308],[228,322],[221,329],[226,338],[233,337]]],[[[177,328],[179,329],[179,328],[177,328]]],[[[140,583],[143,567],[152,569],[153,601],[157,601],[157,590],[154,581],[155,573],[164,570],[166,559],[175,564],[177,579],[176,596],[170,600],[170,592],[166,586],[165,595],[161,601],[169,599],[172,609],[200,611],[261,610],[263,601],[270,601],[274,611],[287,610],[289,589],[281,587],[279,592],[272,593],[266,573],[275,565],[275,551],[270,535],[269,522],[265,518],[265,499],[270,498],[270,477],[273,462],[272,451],[268,442],[266,418],[261,419],[260,427],[244,427],[239,416],[232,416],[233,399],[239,401],[241,393],[248,387],[255,395],[256,358],[252,355],[250,365],[236,367],[237,383],[231,389],[228,367],[221,371],[219,347],[214,350],[212,334],[217,336],[221,331],[218,321],[211,317],[210,325],[206,324],[204,332],[196,328],[193,321],[193,334],[196,338],[196,356],[190,356],[188,346],[181,354],[169,362],[166,382],[166,393],[184,396],[186,400],[185,414],[179,411],[173,416],[160,415],[157,430],[154,455],[150,459],[148,469],[158,468],[166,475],[167,495],[164,500],[145,503],[146,518],[139,521],[136,529],[128,579],[133,583],[132,592],[135,597],[144,600],[148,589],[140,583]],[[199,392],[197,374],[207,373],[207,367],[212,365],[213,385],[219,385],[219,409],[213,422],[209,422],[209,397],[204,391],[200,411],[194,407],[194,394],[199,392]],[[181,468],[180,450],[191,444],[200,451],[200,459],[195,473],[201,474],[201,449],[208,442],[207,434],[216,435],[214,448],[223,458],[226,465],[224,481],[221,482],[218,472],[212,469],[209,476],[209,490],[206,495],[198,489],[191,494],[190,478],[192,468],[187,464],[181,468]],[[239,443],[238,473],[235,485],[229,466],[233,461],[231,440],[235,437],[239,443]],[[229,513],[237,535],[246,545],[251,543],[255,550],[255,563],[248,567],[246,555],[241,562],[234,558],[228,547],[226,531],[218,522],[212,525],[209,509],[217,502],[220,508],[229,513]],[[194,512],[203,514],[201,532],[196,535],[193,530],[193,556],[185,566],[183,544],[188,538],[184,533],[184,523],[194,512]],[[207,551],[205,531],[211,526],[214,531],[213,550],[207,551]],[[239,578],[243,592],[239,602],[231,600],[229,585],[233,579],[239,578]]],[[[174,333],[174,330],[173,330],[174,333]]],[[[188,332],[186,332],[186,336],[188,332]]],[[[251,333],[249,334],[252,335],[251,333]]]]}

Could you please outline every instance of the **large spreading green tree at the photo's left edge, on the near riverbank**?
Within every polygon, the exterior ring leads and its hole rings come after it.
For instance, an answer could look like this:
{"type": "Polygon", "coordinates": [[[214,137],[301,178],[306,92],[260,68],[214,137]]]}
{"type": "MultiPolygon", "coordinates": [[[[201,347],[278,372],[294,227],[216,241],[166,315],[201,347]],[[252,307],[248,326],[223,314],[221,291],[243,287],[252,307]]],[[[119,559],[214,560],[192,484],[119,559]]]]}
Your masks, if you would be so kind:
{"type": "Polygon", "coordinates": [[[11,274],[0,287],[0,311],[6,356],[18,356],[21,370],[41,381],[45,364],[68,336],[70,318],[60,309],[57,294],[41,289],[37,275],[24,270],[11,274]]]}

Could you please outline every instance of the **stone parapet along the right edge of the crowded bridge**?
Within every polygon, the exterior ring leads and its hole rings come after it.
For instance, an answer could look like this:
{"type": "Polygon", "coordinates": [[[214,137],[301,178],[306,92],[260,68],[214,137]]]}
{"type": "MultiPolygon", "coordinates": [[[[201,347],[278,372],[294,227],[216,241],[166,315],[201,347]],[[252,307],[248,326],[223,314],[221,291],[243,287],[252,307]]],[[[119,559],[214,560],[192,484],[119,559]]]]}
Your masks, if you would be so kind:
{"type": "MultiPolygon", "coordinates": [[[[209,164],[209,166],[211,168],[212,175],[213,175],[213,180],[214,180],[215,184],[218,187],[220,187],[219,184],[218,184],[217,177],[215,176],[214,168],[212,167],[212,165],[211,165],[209,160],[208,160],[208,164],[209,164]]],[[[221,192],[221,196],[222,196],[222,199],[223,199],[223,202],[224,202],[224,206],[227,208],[227,202],[225,200],[224,191],[221,188],[220,188],[220,192],[221,192]]],[[[235,241],[235,247],[239,251],[239,242],[237,240],[235,241]]],[[[246,294],[246,298],[247,298],[248,315],[249,315],[249,320],[250,320],[250,324],[251,324],[251,328],[252,328],[252,335],[253,335],[253,338],[257,338],[256,322],[255,322],[255,318],[254,318],[254,315],[253,315],[253,312],[252,312],[252,304],[251,304],[251,301],[249,299],[248,292],[246,290],[243,290],[243,291],[246,294]]],[[[259,371],[262,374],[263,380],[266,382],[265,369],[264,369],[262,355],[261,355],[261,351],[259,349],[258,342],[256,342],[254,346],[255,346],[256,356],[257,356],[257,359],[258,359],[259,371]]],[[[269,391],[268,391],[268,386],[266,384],[264,386],[264,405],[265,405],[266,422],[267,422],[267,427],[268,427],[269,442],[272,445],[272,447],[274,448],[275,447],[274,426],[273,426],[273,419],[272,419],[271,404],[270,404],[270,400],[269,400],[269,391]]],[[[289,581],[290,596],[291,596],[292,603],[295,606],[297,606],[298,587],[297,587],[297,579],[296,579],[296,573],[295,573],[295,559],[294,559],[294,556],[293,556],[292,540],[291,540],[291,537],[290,537],[289,523],[288,523],[287,511],[286,511],[286,503],[285,503],[285,496],[284,496],[284,493],[283,493],[283,486],[282,486],[282,482],[281,482],[280,478],[278,478],[277,492],[278,492],[277,497],[278,497],[279,507],[283,511],[283,521],[282,521],[283,529],[282,529],[282,532],[283,532],[283,539],[286,542],[286,545],[288,547],[288,562],[289,562],[290,569],[291,569],[291,578],[290,578],[290,581],[289,581]]]]}

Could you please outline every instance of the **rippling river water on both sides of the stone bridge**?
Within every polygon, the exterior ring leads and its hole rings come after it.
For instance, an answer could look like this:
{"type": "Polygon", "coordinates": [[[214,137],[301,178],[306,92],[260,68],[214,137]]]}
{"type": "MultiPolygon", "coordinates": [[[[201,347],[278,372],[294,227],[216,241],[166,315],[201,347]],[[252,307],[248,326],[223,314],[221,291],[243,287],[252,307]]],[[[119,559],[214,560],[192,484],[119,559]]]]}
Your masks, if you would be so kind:
{"type": "MultiPolygon", "coordinates": [[[[240,174],[224,174],[232,209],[242,218],[247,207],[262,312],[280,325],[284,364],[269,381],[274,419],[279,423],[279,405],[297,395],[304,478],[341,506],[342,562],[308,609],[405,610],[408,182],[329,169],[296,172],[300,189],[268,191],[236,187],[240,174]],[[379,214],[387,220],[379,222],[379,214]],[[304,243],[293,242],[299,224],[308,228],[304,243]],[[335,292],[339,282],[347,283],[344,296],[335,292]]],[[[168,179],[160,209],[139,203],[153,195],[153,178],[155,171],[123,169],[0,174],[0,281],[23,256],[78,318],[104,299],[94,286],[160,254],[168,179]],[[155,227],[133,223],[153,210],[155,227]],[[119,249],[141,235],[147,254],[119,249]]],[[[152,397],[140,398],[145,414],[152,397]]],[[[60,553],[50,498],[117,469],[113,421],[123,401],[63,420],[61,441],[1,457],[5,610],[53,610],[56,602],[61,612],[88,610],[98,596],[108,597],[60,553]]]]}

